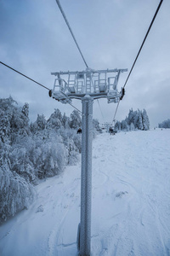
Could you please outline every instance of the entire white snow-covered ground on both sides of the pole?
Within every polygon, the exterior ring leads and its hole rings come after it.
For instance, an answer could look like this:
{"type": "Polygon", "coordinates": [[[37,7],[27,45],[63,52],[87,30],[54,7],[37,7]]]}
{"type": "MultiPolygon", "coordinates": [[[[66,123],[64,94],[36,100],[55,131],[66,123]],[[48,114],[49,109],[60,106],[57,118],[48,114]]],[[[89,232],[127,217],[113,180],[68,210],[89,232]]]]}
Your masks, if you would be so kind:
{"type": "MultiPolygon", "coordinates": [[[[92,255],[170,255],[170,129],[93,141],[92,255]]],[[[37,186],[0,226],[1,256],[77,255],[81,163],[37,186]]]]}

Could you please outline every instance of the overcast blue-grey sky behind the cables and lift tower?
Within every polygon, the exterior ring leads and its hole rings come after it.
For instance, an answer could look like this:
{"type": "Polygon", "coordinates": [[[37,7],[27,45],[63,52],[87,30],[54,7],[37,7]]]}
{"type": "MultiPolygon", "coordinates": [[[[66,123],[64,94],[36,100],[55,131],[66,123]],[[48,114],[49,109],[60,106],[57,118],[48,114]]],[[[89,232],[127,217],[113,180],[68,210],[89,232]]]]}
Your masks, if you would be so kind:
{"type": "MultiPolygon", "coordinates": [[[[60,0],[65,15],[93,69],[127,68],[142,44],[160,0],[60,0]]],[[[164,0],[154,25],[133,68],[126,95],[116,119],[125,119],[130,108],[145,108],[150,125],[170,118],[170,1],[164,0]]],[[[85,70],[82,57],[71,38],[55,0],[0,0],[0,61],[50,89],[51,72],[85,70]]],[[[118,88],[128,73],[122,73],[118,88]]],[[[30,118],[37,113],[48,119],[59,108],[70,115],[74,110],[49,98],[48,90],[0,64],[0,97],[12,96],[22,106],[30,105],[30,118]]],[[[81,101],[74,100],[82,109],[81,101]]],[[[111,122],[116,104],[94,101],[94,118],[111,122]]]]}

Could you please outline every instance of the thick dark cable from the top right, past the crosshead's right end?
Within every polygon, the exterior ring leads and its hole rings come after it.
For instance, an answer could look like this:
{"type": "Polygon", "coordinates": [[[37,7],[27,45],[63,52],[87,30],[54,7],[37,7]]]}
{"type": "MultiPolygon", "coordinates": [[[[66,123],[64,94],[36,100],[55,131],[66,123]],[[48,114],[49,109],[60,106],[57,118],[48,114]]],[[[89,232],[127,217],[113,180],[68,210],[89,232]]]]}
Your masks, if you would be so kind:
{"type": "MultiPolygon", "coordinates": [[[[134,60],[134,62],[133,62],[133,66],[131,67],[130,72],[128,73],[128,76],[127,76],[127,79],[126,79],[126,81],[125,81],[125,84],[124,84],[123,87],[122,87],[122,97],[120,98],[120,100],[122,100],[123,96],[125,95],[125,86],[127,85],[127,81],[128,81],[128,79],[129,79],[129,77],[130,77],[132,71],[133,71],[133,67],[134,67],[134,65],[136,64],[136,61],[138,60],[140,51],[141,51],[141,49],[142,49],[143,46],[144,46],[145,40],[146,40],[146,38],[148,37],[148,34],[149,34],[149,32],[150,32],[150,28],[151,28],[151,26],[153,25],[154,20],[156,19],[156,15],[158,14],[159,9],[161,8],[161,3],[162,3],[162,2],[163,2],[163,0],[160,1],[159,5],[158,5],[158,7],[157,7],[157,9],[156,9],[156,13],[155,13],[153,19],[152,19],[151,22],[150,22],[150,26],[149,26],[149,28],[148,28],[148,31],[147,31],[146,34],[145,34],[145,37],[144,37],[144,40],[143,40],[143,42],[142,42],[142,44],[141,44],[141,46],[140,46],[139,52],[138,52],[138,54],[137,54],[137,56],[136,56],[136,58],[135,58],[135,60],[134,60]]],[[[119,107],[120,100],[119,100],[119,102],[117,103],[117,106],[116,106],[116,111],[115,111],[115,114],[114,114],[114,117],[113,117],[113,120],[112,120],[112,123],[111,123],[112,125],[113,125],[113,122],[115,122],[115,120],[116,120],[116,113],[117,113],[117,109],[118,109],[118,107],[119,107]]]]}

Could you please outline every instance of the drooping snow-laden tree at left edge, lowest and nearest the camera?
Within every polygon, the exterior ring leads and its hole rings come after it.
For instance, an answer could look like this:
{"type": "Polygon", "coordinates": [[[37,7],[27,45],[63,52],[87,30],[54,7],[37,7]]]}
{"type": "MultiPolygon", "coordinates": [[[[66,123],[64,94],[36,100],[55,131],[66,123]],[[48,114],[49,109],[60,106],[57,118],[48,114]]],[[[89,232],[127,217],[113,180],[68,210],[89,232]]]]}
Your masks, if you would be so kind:
{"type": "Polygon", "coordinates": [[[35,196],[31,183],[16,172],[10,172],[8,165],[0,166],[0,223],[16,212],[29,207],[35,196]]]}

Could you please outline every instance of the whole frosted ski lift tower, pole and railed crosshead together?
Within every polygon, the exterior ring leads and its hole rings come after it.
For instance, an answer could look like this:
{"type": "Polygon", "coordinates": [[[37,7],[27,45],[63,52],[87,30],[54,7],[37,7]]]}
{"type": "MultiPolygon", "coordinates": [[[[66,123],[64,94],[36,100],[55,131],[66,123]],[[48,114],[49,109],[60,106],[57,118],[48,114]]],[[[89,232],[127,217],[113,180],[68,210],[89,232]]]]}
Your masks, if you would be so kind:
{"type": "Polygon", "coordinates": [[[79,255],[90,255],[91,247],[91,190],[92,190],[92,137],[93,102],[107,98],[108,103],[118,102],[124,90],[117,90],[120,74],[127,69],[94,70],[81,72],[55,72],[54,90],[49,96],[62,103],[71,99],[82,101],[82,174],[81,174],[81,222],[78,226],[77,248],[79,255]]]}

